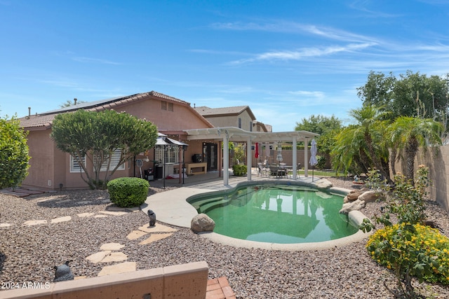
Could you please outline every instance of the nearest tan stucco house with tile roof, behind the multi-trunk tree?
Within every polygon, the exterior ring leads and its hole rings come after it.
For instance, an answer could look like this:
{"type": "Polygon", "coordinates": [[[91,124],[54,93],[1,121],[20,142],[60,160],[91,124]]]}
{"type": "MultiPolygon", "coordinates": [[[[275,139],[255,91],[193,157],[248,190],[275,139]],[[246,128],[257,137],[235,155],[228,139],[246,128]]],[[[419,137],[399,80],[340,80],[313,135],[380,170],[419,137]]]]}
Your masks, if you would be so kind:
{"type": "MultiPolygon", "coordinates": [[[[87,111],[104,111],[112,109],[130,113],[138,118],[145,118],[158,127],[158,131],[179,141],[187,141],[187,133],[184,130],[210,128],[211,123],[203,118],[188,102],[169,97],[159,92],[145,92],[126,97],[116,97],[104,99],[96,102],[88,102],[68,106],[62,109],[48,111],[46,113],[36,113],[20,118],[20,126],[28,134],[29,155],[29,175],[22,182],[22,186],[34,186],[47,189],[60,188],[86,188],[86,183],[81,179],[79,165],[72,159],[71,155],[60,151],[55,142],[50,138],[51,128],[55,116],[60,113],[70,113],[78,109],[87,111]]],[[[203,141],[189,141],[189,146],[185,152],[185,162],[192,162],[192,155],[206,154],[205,143],[203,141]]],[[[217,144],[208,143],[208,146],[218,148],[217,144]]],[[[214,165],[208,165],[208,169],[217,169],[217,156],[215,151],[214,165]]],[[[170,148],[166,153],[166,174],[173,172],[173,167],[179,167],[182,155],[178,148],[170,148]]],[[[140,176],[145,169],[154,167],[154,160],[161,161],[163,152],[161,149],[152,148],[149,151],[135,158],[143,162],[141,168],[136,167],[135,160],[129,160],[126,165],[120,167],[114,174],[120,176],[140,176]]],[[[207,160],[207,159],[206,159],[207,160]]],[[[210,158],[208,159],[210,160],[210,158]]],[[[112,165],[114,157],[112,158],[112,165]]],[[[87,165],[87,167],[93,167],[87,165]]]]}

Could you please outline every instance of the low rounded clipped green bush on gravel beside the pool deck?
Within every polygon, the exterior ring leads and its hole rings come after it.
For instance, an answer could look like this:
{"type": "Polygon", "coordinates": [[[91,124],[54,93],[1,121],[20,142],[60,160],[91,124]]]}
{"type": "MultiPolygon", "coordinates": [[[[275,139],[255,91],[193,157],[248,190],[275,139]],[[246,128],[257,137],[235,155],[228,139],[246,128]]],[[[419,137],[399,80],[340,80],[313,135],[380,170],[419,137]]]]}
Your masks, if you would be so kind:
{"type": "Polygon", "coordinates": [[[119,207],[138,207],[147,200],[149,183],[140,178],[119,178],[107,183],[109,198],[119,207]]]}

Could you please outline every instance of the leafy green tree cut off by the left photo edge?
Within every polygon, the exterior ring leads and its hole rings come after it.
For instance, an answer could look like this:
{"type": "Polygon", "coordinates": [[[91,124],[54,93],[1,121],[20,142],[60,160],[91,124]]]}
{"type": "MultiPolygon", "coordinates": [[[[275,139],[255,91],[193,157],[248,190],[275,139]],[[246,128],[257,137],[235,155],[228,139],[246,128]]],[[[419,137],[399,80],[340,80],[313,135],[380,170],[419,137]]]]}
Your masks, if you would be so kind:
{"type": "Polygon", "coordinates": [[[27,177],[27,132],[16,118],[0,119],[0,189],[18,186],[27,177]]]}

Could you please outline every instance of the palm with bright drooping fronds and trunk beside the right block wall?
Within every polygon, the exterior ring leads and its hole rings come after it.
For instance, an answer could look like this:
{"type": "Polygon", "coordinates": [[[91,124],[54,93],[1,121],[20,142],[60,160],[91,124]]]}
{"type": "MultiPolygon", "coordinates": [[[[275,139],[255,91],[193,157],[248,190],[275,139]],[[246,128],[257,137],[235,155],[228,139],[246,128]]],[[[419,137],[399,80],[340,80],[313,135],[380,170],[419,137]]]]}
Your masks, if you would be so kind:
{"type": "Polygon", "coordinates": [[[425,151],[427,146],[441,145],[443,125],[431,118],[400,116],[390,125],[389,132],[391,142],[397,144],[398,149],[403,149],[405,176],[413,180],[415,156],[419,148],[425,151]]]}

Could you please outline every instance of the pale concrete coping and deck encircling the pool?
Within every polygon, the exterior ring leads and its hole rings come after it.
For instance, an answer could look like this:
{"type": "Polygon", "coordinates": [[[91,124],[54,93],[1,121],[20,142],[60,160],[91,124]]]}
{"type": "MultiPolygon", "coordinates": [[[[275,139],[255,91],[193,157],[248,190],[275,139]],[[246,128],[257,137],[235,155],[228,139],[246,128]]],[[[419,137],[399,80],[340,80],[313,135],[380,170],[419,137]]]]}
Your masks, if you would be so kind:
{"type": "MultiPolygon", "coordinates": [[[[187,198],[194,195],[199,195],[203,193],[213,193],[217,190],[229,190],[231,188],[236,188],[241,184],[257,184],[257,183],[294,183],[302,186],[309,186],[312,188],[317,188],[319,190],[326,190],[330,193],[335,193],[339,195],[347,195],[350,190],[345,188],[330,187],[330,188],[320,188],[323,183],[326,185],[326,179],[316,179],[312,181],[309,178],[304,178],[302,180],[286,180],[286,181],[272,181],[272,180],[255,180],[255,181],[242,181],[234,183],[234,186],[217,186],[210,185],[208,183],[198,184],[195,186],[181,187],[173,190],[167,190],[165,192],[156,193],[147,197],[147,200],[142,204],[141,209],[143,212],[147,213],[149,209],[154,211],[156,214],[157,221],[163,223],[168,223],[170,225],[176,225],[183,228],[190,228],[192,218],[198,214],[196,209],[187,202],[187,198]]],[[[330,182],[329,182],[330,183],[330,182]]],[[[349,221],[353,222],[354,225],[360,225],[363,218],[367,218],[361,211],[350,211],[348,214],[349,221]]],[[[295,244],[279,244],[279,243],[268,243],[268,242],[255,242],[243,239],[236,239],[233,237],[227,237],[225,235],[217,234],[216,232],[201,232],[199,235],[201,237],[206,237],[213,242],[219,244],[225,244],[234,247],[243,247],[248,249],[267,249],[267,250],[279,250],[279,251],[311,251],[311,250],[323,250],[331,249],[340,246],[346,246],[354,242],[360,242],[367,238],[373,232],[362,232],[358,230],[354,235],[347,237],[342,237],[340,239],[334,239],[325,242],[313,242],[313,243],[295,243],[295,244]]]]}

